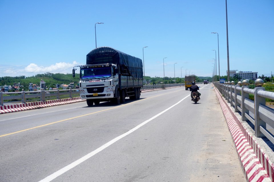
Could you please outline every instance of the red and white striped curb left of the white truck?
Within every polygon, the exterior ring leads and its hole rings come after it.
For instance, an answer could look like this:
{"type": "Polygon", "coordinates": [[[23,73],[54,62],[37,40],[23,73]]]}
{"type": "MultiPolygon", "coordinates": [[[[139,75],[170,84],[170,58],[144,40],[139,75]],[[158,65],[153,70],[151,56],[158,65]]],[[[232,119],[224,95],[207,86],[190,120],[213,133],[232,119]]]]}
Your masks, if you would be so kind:
{"type": "Polygon", "coordinates": [[[59,106],[59,105],[70,104],[75,102],[83,102],[83,101],[85,100],[81,100],[80,97],[74,97],[74,98],[68,98],[68,99],[30,102],[25,104],[5,105],[5,106],[0,106],[0,114],[32,110],[37,108],[46,108],[51,106],[59,106]]]}

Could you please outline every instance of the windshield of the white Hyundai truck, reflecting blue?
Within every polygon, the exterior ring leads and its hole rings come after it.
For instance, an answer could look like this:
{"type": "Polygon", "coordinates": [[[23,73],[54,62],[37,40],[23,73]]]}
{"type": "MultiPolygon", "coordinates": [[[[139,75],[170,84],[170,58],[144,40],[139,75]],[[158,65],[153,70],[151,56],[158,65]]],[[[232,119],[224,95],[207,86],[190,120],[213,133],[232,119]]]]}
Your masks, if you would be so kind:
{"type": "Polygon", "coordinates": [[[111,68],[84,68],[80,71],[81,79],[108,78],[111,76],[111,68]]]}

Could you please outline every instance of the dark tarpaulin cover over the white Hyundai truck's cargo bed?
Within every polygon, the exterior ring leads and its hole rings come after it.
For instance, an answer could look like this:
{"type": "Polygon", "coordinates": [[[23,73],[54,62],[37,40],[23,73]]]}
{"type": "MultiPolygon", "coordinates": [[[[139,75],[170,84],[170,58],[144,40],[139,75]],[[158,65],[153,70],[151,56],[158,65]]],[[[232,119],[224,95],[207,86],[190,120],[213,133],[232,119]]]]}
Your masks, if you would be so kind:
{"type": "Polygon", "coordinates": [[[106,64],[112,63],[117,66],[125,65],[130,74],[135,78],[143,78],[143,63],[140,58],[130,56],[111,47],[98,47],[86,55],[86,64],[106,64]],[[100,58],[112,57],[112,60],[102,60],[100,58]]]}

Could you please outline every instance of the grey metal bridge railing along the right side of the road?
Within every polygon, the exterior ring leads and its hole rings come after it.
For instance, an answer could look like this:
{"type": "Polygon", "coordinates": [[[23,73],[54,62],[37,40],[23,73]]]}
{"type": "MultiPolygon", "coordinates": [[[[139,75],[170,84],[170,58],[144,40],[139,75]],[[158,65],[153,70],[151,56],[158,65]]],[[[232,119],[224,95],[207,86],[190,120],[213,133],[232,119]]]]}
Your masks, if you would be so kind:
{"type": "Polygon", "coordinates": [[[250,89],[248,86],[220,84],[213,82],[222,96],[230,106],[234,107],[234,112],[241,114],[242,121],[250,121],[254,125],[256,137],[267,137],[274,143],[274,137],[267,130],[266,124],[274,128],[274,109],[265,105],[265,98],[274,100],[274,92],[265,91],[262,86],[250,89]],[[249,94],[254,95],[254,101],[249,98],[249,94]]]}

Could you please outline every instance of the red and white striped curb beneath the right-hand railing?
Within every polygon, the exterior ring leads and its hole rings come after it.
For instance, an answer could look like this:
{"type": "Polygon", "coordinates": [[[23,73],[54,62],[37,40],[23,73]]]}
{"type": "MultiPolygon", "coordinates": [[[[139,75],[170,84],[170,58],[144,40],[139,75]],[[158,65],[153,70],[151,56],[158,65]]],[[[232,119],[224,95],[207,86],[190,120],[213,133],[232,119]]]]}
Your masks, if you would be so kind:
{"type": "Polygon", "coordinates": [[[241,167],[247,181],[270,182],[274,179],[274,165],[259,144],[241,124],[227,102],[214,87],[219,103],[226,118],[231,136],[235,143],[241,167]]]}

